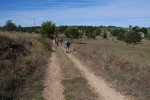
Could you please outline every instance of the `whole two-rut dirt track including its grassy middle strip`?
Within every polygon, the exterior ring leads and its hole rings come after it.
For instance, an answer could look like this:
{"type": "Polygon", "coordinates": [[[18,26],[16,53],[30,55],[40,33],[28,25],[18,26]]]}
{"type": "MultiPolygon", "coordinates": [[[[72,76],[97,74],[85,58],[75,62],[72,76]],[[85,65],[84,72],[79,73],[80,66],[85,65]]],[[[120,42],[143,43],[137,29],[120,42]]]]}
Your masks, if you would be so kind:
{"type": "Polygon", "coordinates": [[[110,88],[101,77],[96,76],[72,54],[66,54],[63,48],[57,49],[50,58],[46,74],[47,87],[43,92],[46,100],[130,100],[110,88]]]}

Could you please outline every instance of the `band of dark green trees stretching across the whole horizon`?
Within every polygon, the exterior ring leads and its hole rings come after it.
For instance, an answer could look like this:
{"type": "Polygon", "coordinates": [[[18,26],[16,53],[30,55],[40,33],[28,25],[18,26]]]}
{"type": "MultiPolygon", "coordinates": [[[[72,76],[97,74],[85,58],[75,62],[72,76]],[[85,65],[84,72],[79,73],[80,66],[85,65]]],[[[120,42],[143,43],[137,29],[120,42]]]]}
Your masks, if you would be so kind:
{"type": "Polygon", "coordinates": [[[8,20],[3,27],[0,27],[3,31],[19,31],[19,32],[35,32],[41,33],[42,36],[53,38],[54,35],[65,34],[66,37],[71,39],[79,39],[86,37],[88,39],[95,39],[97,36],[102,36],[107,39],[107,32],[110,32],[112,36],[116,36],[118,40],[127,43],[139,43],[142,40],[139,32],[143,32],[146,38],[150,38],[148,28],[145,27],[132,27],[121,28],[116,26],[56,26],[51,21],[43,22],[41,26],[35,27],[22,27],[16,25],[12,20],[8,20]]]}

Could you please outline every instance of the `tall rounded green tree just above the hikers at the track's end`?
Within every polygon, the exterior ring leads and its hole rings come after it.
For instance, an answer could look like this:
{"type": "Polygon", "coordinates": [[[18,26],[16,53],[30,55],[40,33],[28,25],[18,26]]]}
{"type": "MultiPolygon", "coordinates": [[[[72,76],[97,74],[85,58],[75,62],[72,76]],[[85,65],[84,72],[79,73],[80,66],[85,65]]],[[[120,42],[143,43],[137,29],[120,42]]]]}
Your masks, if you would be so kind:
{"type": "Polygon", "coordinates": [[[53,38],[55,34],[55,24],[51,21],[44,22],[41,27],[41,33],[43,36],[53,38]]]}

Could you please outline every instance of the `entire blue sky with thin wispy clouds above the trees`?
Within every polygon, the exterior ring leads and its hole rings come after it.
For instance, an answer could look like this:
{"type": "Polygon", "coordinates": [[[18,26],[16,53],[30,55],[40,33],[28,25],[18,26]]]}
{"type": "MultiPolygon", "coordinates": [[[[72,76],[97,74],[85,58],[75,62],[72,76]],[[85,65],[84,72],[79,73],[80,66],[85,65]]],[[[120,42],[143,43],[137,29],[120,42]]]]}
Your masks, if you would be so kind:
{"type": "Polygon", "coordinates": [[[0,26],[113,25],[150,27],[150,0],[0,0],[0,26]]]}

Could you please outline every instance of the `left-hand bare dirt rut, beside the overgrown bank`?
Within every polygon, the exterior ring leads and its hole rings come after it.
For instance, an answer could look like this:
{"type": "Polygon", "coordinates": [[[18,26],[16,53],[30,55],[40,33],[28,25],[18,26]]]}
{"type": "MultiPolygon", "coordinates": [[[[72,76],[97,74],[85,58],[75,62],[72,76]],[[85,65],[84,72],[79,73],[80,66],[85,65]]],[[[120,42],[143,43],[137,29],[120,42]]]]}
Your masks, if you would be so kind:
{"type": "Polygon", "coordinates": [[[52,53],[46,72],[43,97],[46,100],[64,100],[63,86],[61,84],[62,75],[57,63],[56,54],[52,53]]]}

